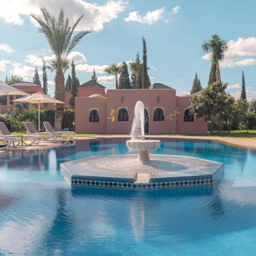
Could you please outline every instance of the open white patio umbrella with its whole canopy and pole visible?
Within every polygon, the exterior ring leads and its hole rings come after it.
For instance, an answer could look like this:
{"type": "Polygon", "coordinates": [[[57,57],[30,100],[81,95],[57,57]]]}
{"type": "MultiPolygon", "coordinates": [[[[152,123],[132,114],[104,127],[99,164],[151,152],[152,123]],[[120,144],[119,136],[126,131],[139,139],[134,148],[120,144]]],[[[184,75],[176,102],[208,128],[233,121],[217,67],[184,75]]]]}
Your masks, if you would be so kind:
{"type": "Polygon", "coordinates": [[[23,102],[29,102],[29,103],[37,103],[38,104],[38,131],[40,131],[40,104],[41,103],[60,103],[64,104],[64,102],[60,100],[56,100],[54,98],[51,98],[42,92],[36,92],[31,95],[19,98],[17,100],[13,101],[23,101],[23,102]]]}

